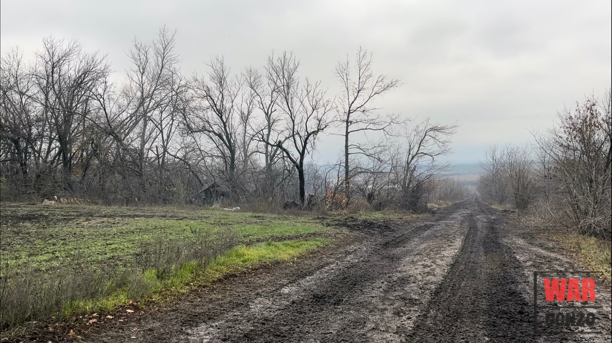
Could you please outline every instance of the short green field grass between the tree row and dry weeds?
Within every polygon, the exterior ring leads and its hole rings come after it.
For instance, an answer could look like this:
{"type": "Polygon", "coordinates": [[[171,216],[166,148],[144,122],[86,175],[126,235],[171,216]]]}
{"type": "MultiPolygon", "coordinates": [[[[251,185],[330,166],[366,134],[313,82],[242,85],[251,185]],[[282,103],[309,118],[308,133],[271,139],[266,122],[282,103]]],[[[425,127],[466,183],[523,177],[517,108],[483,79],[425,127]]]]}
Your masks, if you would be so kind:
{"type": "Polygon", "coordinates": [[[0,209],[0,258],[17,266],[27,263],[40,270],[84,262],[121,264],[136,253],[142,242],[155,237],[185,239],[192,229],[214,233],[229,227],[241,244],[334,230],[310,217],[196,207],[2,204],[0,209]]]}

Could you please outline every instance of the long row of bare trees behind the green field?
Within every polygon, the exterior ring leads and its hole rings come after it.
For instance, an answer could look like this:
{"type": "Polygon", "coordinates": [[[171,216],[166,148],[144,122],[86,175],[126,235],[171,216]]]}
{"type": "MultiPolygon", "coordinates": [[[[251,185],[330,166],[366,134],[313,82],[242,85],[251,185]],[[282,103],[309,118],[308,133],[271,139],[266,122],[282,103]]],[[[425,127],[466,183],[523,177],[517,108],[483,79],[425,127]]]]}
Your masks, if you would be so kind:
{"type": "Polygon", "coordinates": [[[239,73],[213,57],[186,78],[175,43],[165,27],[134,40],[121,76],[78,42],[45,38],[32,63],[16,50],[2,56],[2,199],[304,204],[332,192],[416,209],[444,168],[457,125],[382,114],[376,101],[400,81],[373,73],[365,49],[338,62],[334,97],[286,51],[239,73]],[[336,164],[312,161],[322,134],[344,138],[336,164]]]}

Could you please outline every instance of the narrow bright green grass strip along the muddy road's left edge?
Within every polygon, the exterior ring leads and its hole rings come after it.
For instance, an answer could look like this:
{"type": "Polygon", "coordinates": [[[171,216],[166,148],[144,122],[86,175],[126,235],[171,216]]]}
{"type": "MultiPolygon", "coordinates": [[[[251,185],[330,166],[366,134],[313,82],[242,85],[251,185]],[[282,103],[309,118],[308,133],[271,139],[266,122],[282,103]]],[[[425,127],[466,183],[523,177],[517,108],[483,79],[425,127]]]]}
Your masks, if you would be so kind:
{"type": "Polygon", "coordinates": [[[213,259],[202,270],[195,261],[188,262],[177,269],[169,278],[159,280],[155,270],[136,277],[144,284],[143,295],[139,298],[130,297],[129,286],[97,299],[72,300],[64,306],[63,316],[111,311],[122,305],[128,305],[133,300],[141,303],[159,301],[192,291],[196,287],[206,286],[220,280],[226,275],[244,272],[258,265],[274,262],[284,262],[296,259],[310,251],[330,244],[329,239],[314,238],[307,240],[286,240],[283,242],[262,242],[252,246],[239,245],[227,253],[213,259]]]}

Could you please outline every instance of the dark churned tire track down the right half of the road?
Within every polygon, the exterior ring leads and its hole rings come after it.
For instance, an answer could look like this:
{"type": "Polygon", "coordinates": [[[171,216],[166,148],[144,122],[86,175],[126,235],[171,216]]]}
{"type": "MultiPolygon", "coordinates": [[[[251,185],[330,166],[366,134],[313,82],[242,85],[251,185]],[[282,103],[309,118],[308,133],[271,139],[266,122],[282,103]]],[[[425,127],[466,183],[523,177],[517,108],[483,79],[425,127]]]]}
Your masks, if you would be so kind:
{"type": "MultiPolygon", "coordinates": [[[[487,214],[479,203],[481,213],[487,214]]],[[[414,342],[534,342],[531,304],[521,294],[521,264],[504,244],[496,215],[466,218],[465,243],[407,334],[414,342]]]]}

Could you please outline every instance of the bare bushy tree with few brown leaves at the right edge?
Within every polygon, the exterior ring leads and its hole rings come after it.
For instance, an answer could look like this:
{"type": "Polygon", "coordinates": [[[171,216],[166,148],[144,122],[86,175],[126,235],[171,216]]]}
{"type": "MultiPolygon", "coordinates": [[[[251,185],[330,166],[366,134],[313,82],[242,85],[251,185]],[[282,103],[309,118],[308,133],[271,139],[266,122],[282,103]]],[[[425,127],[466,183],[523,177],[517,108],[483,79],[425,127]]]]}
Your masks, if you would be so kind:
{"type": "Polygon", "coordinates": [[[559,113],[559,126],[536,135],[547,159],[548,186],[556,195],[556,222],[580,233],[610,239],[611,93],[588,96],[573,110],[559,113]]]}

